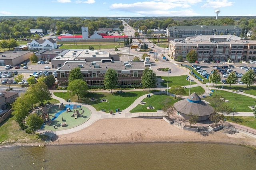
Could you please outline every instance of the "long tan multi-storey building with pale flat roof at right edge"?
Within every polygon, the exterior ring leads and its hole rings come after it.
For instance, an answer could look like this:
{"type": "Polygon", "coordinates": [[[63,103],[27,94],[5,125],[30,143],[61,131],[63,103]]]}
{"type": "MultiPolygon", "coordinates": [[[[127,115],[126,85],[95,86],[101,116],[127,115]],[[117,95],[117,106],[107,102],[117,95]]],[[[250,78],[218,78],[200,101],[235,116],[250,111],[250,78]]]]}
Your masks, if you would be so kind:
{"type": "Polygon", "coordinates": [[[196,50],[198,61],[256,60],[256,41],[235,35],[196,35],[185,40],[174,39],[170,41],[169,49],[172,59],[177,59],[179,55],[186,59],[191,50],[196,50]]]}

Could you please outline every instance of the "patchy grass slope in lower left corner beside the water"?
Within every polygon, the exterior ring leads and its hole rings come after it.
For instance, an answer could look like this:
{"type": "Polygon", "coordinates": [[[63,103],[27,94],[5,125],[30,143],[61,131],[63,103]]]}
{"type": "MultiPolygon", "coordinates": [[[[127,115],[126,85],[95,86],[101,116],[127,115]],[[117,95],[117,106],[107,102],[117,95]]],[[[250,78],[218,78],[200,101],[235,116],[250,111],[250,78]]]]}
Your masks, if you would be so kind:
{"type": "Polygon", "coordinates": [[[0,144],[43,142],[43,139],[47,139],[47,136],[27,134],[25,131],[20,130],[20,126],[14,120],[14,115],[10,115],[5,121],[0,123],[0,144]]]}

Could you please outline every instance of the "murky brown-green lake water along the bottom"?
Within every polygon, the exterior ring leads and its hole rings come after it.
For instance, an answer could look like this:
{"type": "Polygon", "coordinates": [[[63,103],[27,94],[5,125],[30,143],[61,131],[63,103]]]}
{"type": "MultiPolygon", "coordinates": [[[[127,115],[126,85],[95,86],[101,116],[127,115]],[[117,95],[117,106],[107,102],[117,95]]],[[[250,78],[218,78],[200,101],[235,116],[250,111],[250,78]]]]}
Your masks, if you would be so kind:
{"type": "Polygon", "coordinates": [[[255,170],[256,150],[212,143],[129,143],[0,149],[1,170],[255,170]]]}

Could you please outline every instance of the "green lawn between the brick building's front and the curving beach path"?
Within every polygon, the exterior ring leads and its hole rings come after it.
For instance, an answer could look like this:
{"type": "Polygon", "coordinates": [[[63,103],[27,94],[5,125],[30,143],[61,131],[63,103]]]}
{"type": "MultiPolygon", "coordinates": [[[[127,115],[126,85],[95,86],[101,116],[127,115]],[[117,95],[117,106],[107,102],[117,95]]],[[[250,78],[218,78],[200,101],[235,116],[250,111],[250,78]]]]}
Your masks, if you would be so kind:
{"type": "Polygon", "coordinates": [[[120,109],[122,111],[126,107],[130,106],[138,97],[144,95],[144,94],[149,94],[152,92],[157,92],[158,90],[151,90],[148,92],[148,90],[145,91],[135,91],[135,92],[123,92],[123,93],[116,93],[115,90],[112,90],[113,93],[92,93],[89,92],[86,95],[86,98],[81,98],[81,100],[77,101],[76,96],[69,96],[67,92],[62,93],[62,92],[54,92],[55,96],[58,96],[63,99],[71,99],[72,102],[81,102],[81,103],[86,103],[91,106],[93,106],[97,111],[100,111],[101,109],[105,109],[107,113],[108,111],[108,106],[109,110],[116,112],[116,109],[120,109]],[[95,98],[95,101],[91,101],[90,98],[95,98]],[[102,99],[106,99],[109,101],[108,102],[100,102],[102,99]]]}

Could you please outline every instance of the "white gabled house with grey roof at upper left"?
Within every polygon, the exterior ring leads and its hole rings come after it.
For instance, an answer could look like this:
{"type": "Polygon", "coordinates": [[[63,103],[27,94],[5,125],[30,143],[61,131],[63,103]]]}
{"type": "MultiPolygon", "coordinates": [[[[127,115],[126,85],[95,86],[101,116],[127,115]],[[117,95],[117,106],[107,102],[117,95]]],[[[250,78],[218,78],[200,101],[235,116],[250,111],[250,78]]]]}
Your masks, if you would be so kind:
{"type": "Polygon", "coordinates": [[[57,42],[54,41],[52,38],[44,40],[34,39],[32,41],[28,41],[29,51],[39,51],[47,49],[57,49],[57,42]]]}

